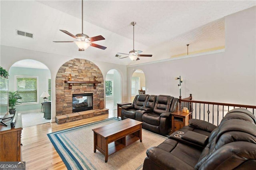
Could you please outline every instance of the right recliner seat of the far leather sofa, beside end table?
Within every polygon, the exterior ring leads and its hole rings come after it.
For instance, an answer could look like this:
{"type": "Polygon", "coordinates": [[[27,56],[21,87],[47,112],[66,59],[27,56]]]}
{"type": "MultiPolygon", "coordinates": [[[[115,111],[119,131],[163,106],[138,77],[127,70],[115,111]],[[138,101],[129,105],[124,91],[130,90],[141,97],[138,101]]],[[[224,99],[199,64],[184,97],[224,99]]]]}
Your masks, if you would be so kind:
{"type": "Polygon", "coordinates": [[[142,115],[142,128],[166,135],[171,128],[171,113],[177,109],[178,99],[158,95],[152,112],[142,115]]]}

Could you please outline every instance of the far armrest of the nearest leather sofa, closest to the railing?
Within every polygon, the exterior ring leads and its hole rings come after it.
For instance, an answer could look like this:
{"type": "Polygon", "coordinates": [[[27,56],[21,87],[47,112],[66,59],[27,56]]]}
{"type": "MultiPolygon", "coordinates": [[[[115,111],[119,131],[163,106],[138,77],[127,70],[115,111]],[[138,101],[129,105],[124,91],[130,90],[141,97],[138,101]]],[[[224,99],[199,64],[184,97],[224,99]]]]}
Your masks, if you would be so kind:
{"type": "Polygon", "coordinates": [[[207,132],[212,132],[217,126],[213,125],[212,123],[198,120],[198,119],[190,119],[188,121],[189,125],[201,130],[205,130],[207,132]]]}

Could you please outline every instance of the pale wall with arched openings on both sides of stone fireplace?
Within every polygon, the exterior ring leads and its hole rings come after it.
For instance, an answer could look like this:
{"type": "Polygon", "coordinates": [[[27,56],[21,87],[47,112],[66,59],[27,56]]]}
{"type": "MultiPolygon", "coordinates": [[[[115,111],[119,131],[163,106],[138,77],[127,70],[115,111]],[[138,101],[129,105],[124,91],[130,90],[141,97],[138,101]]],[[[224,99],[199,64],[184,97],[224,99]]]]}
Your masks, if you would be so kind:
{"type": "MultiPolygon", "coordinates": [[[[28,49],[9,47],[5,45],[1,45],[0,48],[1,48],[1,53],[0,53],[1,66],[4,67],[6,70],[9,70],[12,64],[14,64],[16,61],[19,61],[22,59],[34,59],[34,60],[40,61],[50,69],[51,78],[52,78],[52,122],[54,122],[55,116],[56,116],[55,81],[56,81],[57,72],[64,63],[76,57],[70,57],[66,55],[58,55],[58,54],[52,54],[52,53],[44,53],[40,51],[32,51],[28,49]]],[[[122,79],[122,100],[126,101],[126,97],[127,97],[126,67],[124,67],[123,65],[105,63],[101,61],[92,61],[92,62],[94,62],[100,68],[104,76],[104,80],[105,80],[105,75],[110,69],[116,69],[119,71],[122,79]]]]}

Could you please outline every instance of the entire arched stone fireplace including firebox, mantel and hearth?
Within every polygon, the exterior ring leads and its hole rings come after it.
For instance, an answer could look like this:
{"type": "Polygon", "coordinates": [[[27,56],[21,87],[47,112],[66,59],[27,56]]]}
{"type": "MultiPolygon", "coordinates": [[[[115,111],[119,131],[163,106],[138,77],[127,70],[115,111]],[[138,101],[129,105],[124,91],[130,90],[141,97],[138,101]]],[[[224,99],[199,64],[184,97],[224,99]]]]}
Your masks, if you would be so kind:
{"type": "MultiPolygon", "coordinates": [[[[100,115],[100,101],[104,101],[104,79],[102,72],[97,65],[86,59],[72,59],[60,67],[56,75],[57,123],[58,121],[60,122],[60,118],[72,117],[72,119],[67,119],[65,121],[68,122],[84,119],[88,117],[88,115],[85,116],[87,113],[100,115]],[[70,74],[71,80],[69,78],[70,74]],[[68,81],[72,81],[72,83],[68,83],[68,81]],[[95,84],[95,81],[100,83],[95,84]],[[85,96],[82,96],[81,94],[85,96]],[[92,96],[90,99],[92,101],[91,103],[89,103],[88,96],[86,96],[88,94],[92,96]],[[74,99],[74,97],[77,100],[74,99]],[[87,111],[82,111],[78,109],[79,105],[85,107],[86,105],[90,106],[86,108],[87,111]],[[73,111],[74,106],[76,107],[75,111],[73,111]],[[66,117],[62,115],[66,115],[66,117]],[[73,118],[74,115],[78,115],[78,117],[73,118]]],[[[103,110],[102,114],[108,114],[108,109],[103,110]]],[[[89,117],[92,117],[92,114],[89,117]]]]}

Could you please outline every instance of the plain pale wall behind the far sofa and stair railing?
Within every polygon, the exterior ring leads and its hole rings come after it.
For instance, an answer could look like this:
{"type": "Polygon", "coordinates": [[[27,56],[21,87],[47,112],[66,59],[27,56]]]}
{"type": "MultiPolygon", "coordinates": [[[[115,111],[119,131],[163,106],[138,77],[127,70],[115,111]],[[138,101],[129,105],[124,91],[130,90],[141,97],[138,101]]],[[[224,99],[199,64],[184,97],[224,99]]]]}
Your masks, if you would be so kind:
{"type": "MultiPolygon", "coordinates": [[[[225,17],[225,52],[128,67],[127,82],[136,69],[144,71],[147,94],[195,100],[256,105],[256,7],[225,17]]],[[[157,57],[157,56],[153,56],[157,57]]],[[[130,98],[130,83],[127,86],[130,98]]]]}

